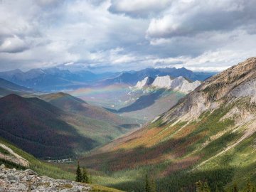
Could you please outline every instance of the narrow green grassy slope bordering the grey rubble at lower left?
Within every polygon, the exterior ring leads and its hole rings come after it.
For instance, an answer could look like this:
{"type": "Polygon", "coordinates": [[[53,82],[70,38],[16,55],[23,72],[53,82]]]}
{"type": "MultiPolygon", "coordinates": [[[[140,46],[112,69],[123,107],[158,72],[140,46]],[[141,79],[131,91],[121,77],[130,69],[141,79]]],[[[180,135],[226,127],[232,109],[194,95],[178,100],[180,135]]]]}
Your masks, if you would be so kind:
{"type": "MultiPolygon", "coordinates": [[[[51,178],[60,178],[60,179],[69,179],[74,181],[75,180],[75,171],[70,172],[70,171],[64,171],[63,169],[58,168],[57,166],[54,166],[52,164],[48,164],[43,161],[39,161],[36,159],[34,156],[31,154],[26,153],[25,151],[22,151],[21,149],[18,149],[16,146],[13,144],[10,144],[9,142],[6,142],[4,139],[0,138],[0,143],[8,146],[11,148],[16,154],[22,156],[24,159],[28,160],[30,162],[29,169],[33,169],[36,171],[39,175],[43,176],[49,176],[51,178]]],[[[3,151],[0,149],[0,153],[3,151]]],[[[1,161],[0,161],[1,162],[1,161]]],[[[9,164],[9,166],[14,166],[16,168],[20,169],[25,169],[22,168],[21,166],[16,166],[15,164],[10,164],[9,162],[4,162],[9,164]]],[[[93,178],[95,180],[95,178],[93,178]]],[[[119,192],[119,190],[114,189],[114,188],[107,188],[105,186],[100,186],[97,184],[92,184],[92,191],[102,191],[102,192],[119,192]]],[[[121,191],[120,191],[121,192],[121,191]]]]}

